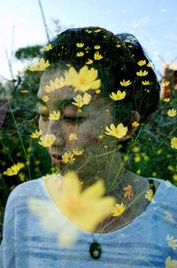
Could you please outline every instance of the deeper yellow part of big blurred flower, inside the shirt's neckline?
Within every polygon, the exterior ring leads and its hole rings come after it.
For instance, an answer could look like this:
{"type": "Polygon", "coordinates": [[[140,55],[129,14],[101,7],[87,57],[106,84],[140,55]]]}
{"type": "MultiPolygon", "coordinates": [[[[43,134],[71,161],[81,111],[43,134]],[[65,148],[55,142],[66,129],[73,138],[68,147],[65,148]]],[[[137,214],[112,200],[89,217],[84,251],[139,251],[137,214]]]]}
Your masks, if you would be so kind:
{"type": "Polygon", "coordinates": [[[113,197],[104,196],[104,182],[99,179],[94,185],[81,191],[81,182],[74,172],[65,174],[58,207],[75,225],[89,232],[112,214],[113,197]]]}

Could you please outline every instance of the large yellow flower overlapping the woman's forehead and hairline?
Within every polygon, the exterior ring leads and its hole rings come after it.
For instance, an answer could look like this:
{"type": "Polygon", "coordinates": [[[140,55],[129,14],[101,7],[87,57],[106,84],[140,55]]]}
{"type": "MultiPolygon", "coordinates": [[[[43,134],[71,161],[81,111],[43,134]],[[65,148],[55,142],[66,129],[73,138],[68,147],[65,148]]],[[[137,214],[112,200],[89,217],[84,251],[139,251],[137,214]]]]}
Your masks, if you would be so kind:
{"type": "Polygon", "coordinates": [[[70,67],[65,73],[65,85],[73,86],[75,91],[97,90],[101,86],[101,80],[97,78],[97,70],[88,66],[81,67],[79,73],[70,67]]]}

